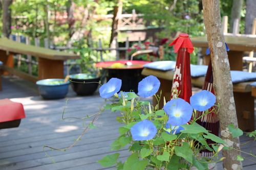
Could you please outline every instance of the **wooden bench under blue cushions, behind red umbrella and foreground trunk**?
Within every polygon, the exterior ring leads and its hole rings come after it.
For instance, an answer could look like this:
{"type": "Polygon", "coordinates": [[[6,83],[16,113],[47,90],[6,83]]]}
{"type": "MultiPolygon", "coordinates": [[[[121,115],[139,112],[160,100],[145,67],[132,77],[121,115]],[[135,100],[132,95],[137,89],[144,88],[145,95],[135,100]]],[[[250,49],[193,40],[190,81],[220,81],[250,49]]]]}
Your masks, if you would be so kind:
{"type": "MultiPolygon", "coordinates": [[[[170,99],[170,90],[172,89],[174,70],[159,70],[144,67],[141,74],[144,76],[153,75],[159,79],[161,85],[157,94],[159,95],[160,90],[162,90],[159,107],[163,107],[163,96],[165,97],[166,101],[170,99]]],[[[204,79],[204,76],[191,77],[191,83],[194,87],[202,88],[204,79]]],[[[233,95],[234,102],[236,104],[238,124],[239,128],[243,131],[254,131],[254,96],[251,95],[252,86],[250,85],[252,82],[254,81],[233,83],[233,95]]],[[[153,98],[153,105],[155,106],[156,104],[157,101],[155,98],[153,98]]]]}

